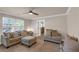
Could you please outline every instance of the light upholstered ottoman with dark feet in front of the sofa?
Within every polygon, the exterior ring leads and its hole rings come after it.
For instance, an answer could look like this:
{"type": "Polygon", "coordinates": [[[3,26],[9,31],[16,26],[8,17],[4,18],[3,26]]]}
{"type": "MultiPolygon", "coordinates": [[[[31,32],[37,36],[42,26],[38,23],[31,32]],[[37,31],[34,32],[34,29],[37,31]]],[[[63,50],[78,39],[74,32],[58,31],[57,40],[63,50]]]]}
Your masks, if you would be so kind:
{"type": "Polygon", "coordinates": [[[34,36],[26,36],[21,38],[21,43],[30,47],[34,43],[36,43],[36,37],[34,36]]]}

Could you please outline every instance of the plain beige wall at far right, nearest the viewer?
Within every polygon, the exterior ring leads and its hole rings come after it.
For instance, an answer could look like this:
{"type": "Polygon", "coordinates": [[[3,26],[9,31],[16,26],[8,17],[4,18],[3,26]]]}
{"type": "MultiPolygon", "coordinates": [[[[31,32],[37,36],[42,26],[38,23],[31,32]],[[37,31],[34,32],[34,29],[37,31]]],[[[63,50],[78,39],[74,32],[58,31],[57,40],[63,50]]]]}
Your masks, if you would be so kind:
{"type": "Polygon", "coordinates": [[[67,32],[79,38],[79,8],[72,7],[67,16],[67,32]]]}

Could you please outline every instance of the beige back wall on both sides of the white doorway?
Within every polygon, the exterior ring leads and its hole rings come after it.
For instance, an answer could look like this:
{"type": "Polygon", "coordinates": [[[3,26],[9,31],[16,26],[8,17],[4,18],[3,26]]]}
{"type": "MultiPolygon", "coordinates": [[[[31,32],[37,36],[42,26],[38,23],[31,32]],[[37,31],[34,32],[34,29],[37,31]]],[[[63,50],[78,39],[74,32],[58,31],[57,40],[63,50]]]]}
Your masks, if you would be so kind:
{"type": "Polygon", "coordinates": [[[48,17],[41,18],[32,21],[32,28],[34,32],[38,34],[38,20],[45,20],[45,29],[56,29],[63,34],[63,36],[67,32],[67,17],[66,15],[56,16],[56,17],[48,17]]]}

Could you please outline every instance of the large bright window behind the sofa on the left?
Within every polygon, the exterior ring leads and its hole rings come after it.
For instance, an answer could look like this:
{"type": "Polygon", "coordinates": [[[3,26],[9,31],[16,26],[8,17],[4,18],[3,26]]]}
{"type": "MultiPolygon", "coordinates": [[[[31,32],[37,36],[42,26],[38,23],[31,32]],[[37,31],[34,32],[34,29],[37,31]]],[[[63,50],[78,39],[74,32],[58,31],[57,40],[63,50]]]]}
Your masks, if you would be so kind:
{"type": "Polygon", "coordinates": [[[24,30],[24,20],[3,17],[3,32],[14,32],[24,30]]]}

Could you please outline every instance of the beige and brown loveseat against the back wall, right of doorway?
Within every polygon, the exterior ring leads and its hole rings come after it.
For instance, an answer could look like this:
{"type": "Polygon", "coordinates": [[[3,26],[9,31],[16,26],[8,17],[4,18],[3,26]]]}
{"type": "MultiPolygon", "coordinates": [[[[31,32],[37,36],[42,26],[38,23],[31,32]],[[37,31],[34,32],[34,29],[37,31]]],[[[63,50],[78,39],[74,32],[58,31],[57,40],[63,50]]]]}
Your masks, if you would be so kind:
{"type": "Polygon", "coordinates": [[[62,35],[57,30],[46,29],[46,35],[44,37],[45,41],[61,43],[62,35]]]}

